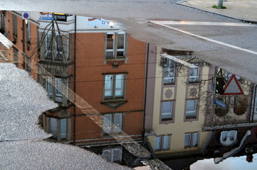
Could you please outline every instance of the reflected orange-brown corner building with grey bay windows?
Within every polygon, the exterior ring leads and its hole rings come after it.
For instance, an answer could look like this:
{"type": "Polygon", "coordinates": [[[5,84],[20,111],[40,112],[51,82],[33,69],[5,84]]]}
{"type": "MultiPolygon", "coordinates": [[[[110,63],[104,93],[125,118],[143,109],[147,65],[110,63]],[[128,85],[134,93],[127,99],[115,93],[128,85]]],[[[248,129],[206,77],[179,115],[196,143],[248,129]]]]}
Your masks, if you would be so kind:
{"type": "Polygon", "coordinates": [[[143,141],[146,43],[101,18],[59,13],[57,24],[53,13],[40,15],[31,12],[26,24],[21,12],[7,11],[1,23],[15,44],[8,57],[59,104],[43,114],[50,140],[79,145],[110,162],[134,162],[117,141],[143,141]]]}

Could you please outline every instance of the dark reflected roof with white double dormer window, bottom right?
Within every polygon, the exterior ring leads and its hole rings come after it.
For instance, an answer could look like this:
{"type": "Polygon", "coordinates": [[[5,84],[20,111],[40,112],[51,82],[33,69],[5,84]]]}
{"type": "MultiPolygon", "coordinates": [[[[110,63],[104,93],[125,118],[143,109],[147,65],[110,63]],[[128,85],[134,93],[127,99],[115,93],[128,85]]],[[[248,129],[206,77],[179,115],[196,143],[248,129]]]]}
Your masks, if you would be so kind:
{"type": "Polygon", "coordinates": [[[202,148],[201,153],[192,155],[190,152],[181,152],[177,154],[177,157],[163,159],[163,162],[170,166],[171,169],[176,170],[190,169],[192,164],[204,159],[212,159],[214,164],[219,164],[229,157],[246,155],[246,164],[253,161],[252,155],[257,152],[256,127],[225,128],[211,131],[210,134],[209,140],[202,148]],[[229,132],[231,132],[230,137],[229,132]],[[233,140],[234,142],[226,145],[223,142],[224,137],[226,137],[226,140],[233,140]]]}

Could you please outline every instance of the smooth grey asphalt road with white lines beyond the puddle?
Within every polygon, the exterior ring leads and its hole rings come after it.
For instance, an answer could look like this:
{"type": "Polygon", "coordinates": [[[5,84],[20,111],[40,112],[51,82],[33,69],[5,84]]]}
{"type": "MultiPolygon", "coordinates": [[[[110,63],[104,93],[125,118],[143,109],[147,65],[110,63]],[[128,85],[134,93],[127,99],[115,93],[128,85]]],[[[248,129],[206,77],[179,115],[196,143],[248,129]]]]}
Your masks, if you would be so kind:
{"type": "Polygon", "coordinates": [[[173,50],[194,51],[196,57],[257,83],[257,55],[254,54],[257,52],[257,27],[255,25],[249,27],[249,23],[246,23],[246,26],[171,24],[166,27],[148,22],[241,23],[237,19],[182,6],[175,2],[164,0],[1,0],[0,8],[2,10],[48,11],[106,18],[121,23],[121,28],[131,33],[133,38],[173,50]]]}

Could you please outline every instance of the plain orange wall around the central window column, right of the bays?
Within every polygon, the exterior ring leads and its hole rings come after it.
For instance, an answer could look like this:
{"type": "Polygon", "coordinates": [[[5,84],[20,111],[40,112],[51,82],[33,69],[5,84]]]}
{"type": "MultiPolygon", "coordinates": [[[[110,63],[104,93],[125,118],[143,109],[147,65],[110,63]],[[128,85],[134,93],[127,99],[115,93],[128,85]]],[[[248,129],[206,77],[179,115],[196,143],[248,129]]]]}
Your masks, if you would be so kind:
{"type": "MultiPolygon", "coordinates": [[[[76,140],[104,137],[103,116],[124,113],[124,136],[141,137],[143,130],[143,94],[145,84],[146,43],[128,36],[126,64],[114,68],[104,62],[104,33],[77,33],[76,94],[91,108],[76,107],[76,140]],[[126,72],[126,101],[119,108],[104,105],[104,73],[126,72]],[[92,111],[94,114],[92,115],[92,111]],[[95,118],[97,116],[97,118],[95,118]]],[[[91,141],[92,142],[92,141],[91,141]]]]}

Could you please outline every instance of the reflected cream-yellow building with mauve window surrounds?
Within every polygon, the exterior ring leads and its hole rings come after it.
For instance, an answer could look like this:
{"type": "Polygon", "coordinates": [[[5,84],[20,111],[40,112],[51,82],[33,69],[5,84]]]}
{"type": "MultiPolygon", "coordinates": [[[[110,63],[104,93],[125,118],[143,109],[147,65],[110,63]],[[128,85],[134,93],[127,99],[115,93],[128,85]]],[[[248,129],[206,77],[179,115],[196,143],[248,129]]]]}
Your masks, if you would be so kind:
{"type": "Polygon", "coordinates": [[[146,136],[153,154],[167,159],[181,152],[202,152],[201,147],[209,136],[209,132],[202,131],[209,86],[209,81],[204,80],[209,79],[209,65],[192,57],[190,52],[179,53],[154,46],[151,51],[146,136]],[[173,60],[163,57],[162,53],[167,53],[173,60]],[[181,64],[181,61],[189,63],[181,64]]]}

